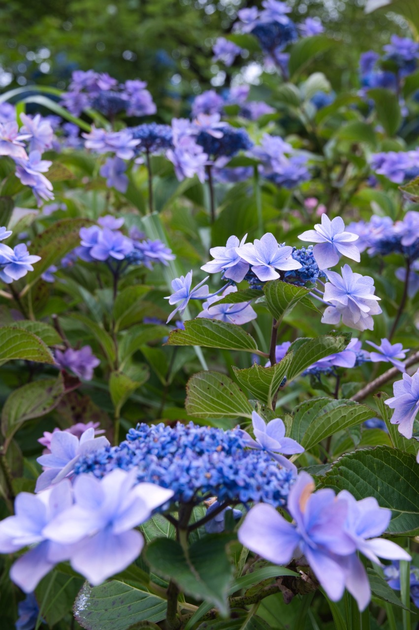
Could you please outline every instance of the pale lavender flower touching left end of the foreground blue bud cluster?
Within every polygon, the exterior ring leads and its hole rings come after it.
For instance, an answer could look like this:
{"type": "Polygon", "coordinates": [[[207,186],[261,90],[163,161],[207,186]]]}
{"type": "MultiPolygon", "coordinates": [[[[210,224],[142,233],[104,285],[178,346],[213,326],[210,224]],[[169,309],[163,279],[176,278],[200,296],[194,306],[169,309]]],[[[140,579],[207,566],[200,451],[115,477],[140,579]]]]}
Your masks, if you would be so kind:
{"type": "Polygon", "coordinates": [[[103,435],[95,438],[94,428],[84,431],[80,438],[67,431],[52,433],[51,452],[37,458],[38,464],[45,467],[46,470],[38,477],[35,492],[45,490],[52,485],[55,486],[62,479],[71,476],[81,455],[105,449],[106,446],[110,446],[110,442],[103,435]]]}

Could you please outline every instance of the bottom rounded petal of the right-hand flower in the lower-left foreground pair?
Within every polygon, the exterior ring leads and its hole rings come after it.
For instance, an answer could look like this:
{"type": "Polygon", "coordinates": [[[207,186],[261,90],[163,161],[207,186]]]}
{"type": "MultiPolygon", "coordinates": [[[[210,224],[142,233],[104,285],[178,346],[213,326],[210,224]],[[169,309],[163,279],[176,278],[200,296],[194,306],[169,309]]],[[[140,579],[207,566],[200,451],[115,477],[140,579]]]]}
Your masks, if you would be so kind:
{"type": "Polygon", "coordinates": [[[71,566],[93,586],[123,571],[141,553],[144,538],[135,530],[115,536],[110,529],[81,542],[71,556],[71,566]]]}

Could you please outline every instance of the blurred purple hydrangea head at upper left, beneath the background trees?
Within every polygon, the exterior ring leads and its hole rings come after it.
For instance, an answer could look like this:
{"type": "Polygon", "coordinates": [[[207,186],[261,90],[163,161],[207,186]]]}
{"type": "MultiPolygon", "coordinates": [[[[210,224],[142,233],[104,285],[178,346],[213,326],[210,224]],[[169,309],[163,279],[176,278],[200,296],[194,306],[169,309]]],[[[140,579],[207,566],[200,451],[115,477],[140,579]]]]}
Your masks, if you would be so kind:
{"type": "Polygon", "coordinates": [[[147,83],[139,79],[120,84],[106,72],[76,70],[61,104],[75,116],[88,108],[110,118],[120,112],[127,116],[146,116],[156,113],[156,105],[146,87],[147,83]]]}

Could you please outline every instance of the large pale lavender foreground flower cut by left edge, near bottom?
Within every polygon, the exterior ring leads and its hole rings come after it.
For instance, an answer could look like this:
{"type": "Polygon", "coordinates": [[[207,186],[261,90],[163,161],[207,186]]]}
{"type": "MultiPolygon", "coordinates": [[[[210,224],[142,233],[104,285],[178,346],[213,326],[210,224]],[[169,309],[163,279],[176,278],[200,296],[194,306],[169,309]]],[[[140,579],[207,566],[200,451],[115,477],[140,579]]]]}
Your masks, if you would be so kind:
{"type": "Polygon", "coordinates": [[[53,490],[39,495],[21,492],[14,501],[15,515],[0,522],[0,553],[14,553],[36,545],[20,556],[10,570],[11,580],[23,592],[33,592],[57,562],[69,559],[67,543],[50,541],[43,529],[71,504],[71,484],[64,480],[53,490]]]}

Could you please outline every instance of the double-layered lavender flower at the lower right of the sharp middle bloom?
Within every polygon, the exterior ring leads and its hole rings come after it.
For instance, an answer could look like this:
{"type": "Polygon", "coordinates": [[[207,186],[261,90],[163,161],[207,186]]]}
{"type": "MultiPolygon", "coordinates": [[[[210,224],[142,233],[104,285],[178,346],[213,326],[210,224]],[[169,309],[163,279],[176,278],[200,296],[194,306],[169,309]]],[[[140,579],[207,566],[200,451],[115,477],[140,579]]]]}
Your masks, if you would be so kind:
{"type": "Polygon", "coordinates": [[[321,321],[326,324],[338,324],[342,316],[343,323],[351,328],[372,330],[372,315],[381,312],[374,295],[374,279],[353,273],[349,265],[341,268],[342,276],[326,271],[329,282],[324,285],[324,301],[330,302],[321,321]]]}

